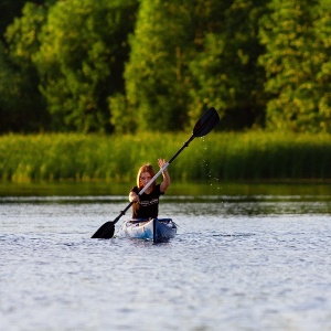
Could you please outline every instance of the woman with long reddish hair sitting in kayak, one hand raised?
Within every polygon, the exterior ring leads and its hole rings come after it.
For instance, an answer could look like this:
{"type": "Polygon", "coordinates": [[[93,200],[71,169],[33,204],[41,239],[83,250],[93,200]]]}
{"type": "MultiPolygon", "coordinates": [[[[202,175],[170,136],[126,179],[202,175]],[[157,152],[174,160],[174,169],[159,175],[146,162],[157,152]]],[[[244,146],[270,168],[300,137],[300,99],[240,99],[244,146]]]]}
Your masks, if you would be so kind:
{"type": "MultiPolygon", "coordinates": [[[[166,164],[164,159],[158,159],[158,164],[162,168],[166,164]]],[[[159,197],[164,194],[170,185],[168,170],[162,172],[163,181],[161,184],[153,182],[141,195],[139,192],[150,182],[156,172],[149,163],[140,167],[137,174],[137,186],[132,188],[129,193],[129,201],[135,202],[132,205],[132,218],[157,218],[159,214],[159,197]]]]}

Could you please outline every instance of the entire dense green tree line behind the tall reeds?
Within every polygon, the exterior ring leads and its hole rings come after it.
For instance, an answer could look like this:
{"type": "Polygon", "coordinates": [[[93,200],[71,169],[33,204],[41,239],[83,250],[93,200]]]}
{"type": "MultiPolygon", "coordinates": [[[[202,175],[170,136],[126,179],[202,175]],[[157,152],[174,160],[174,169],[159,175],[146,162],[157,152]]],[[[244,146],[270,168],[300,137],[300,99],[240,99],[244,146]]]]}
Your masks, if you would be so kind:
{"type": "Polygon", "coordinates": [[[0,1],[0,132],[331,131],[330,0],[0,1]]]}

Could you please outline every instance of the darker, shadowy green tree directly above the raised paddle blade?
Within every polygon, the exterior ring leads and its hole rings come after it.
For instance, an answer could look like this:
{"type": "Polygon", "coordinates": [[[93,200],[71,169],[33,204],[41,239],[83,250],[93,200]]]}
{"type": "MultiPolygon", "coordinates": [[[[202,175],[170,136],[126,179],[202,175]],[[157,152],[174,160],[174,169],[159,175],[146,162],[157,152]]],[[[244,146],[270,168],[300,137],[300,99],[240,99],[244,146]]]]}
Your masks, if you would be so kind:
{"type": "Polygon", "coordinates": [[[202,49],[190,65],[195,82],[191,114],[214,105],[223,129],[264,125],[265,74],[257,65],[264,47],[257,33],[265,10],[263,0],[214,2],[207,17],[214,24],[205,29],[202,49]]]}

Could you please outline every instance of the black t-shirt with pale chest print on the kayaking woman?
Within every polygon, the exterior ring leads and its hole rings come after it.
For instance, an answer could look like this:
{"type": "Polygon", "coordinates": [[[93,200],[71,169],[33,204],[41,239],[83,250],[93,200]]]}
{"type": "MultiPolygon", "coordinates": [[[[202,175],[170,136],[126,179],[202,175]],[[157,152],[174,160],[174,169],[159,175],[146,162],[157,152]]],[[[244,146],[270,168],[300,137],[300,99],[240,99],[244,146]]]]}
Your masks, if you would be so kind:
{"type": "MultiPolygon", "coordinates": [[[[160,191],[160,184],[147,194],[146,192],[139,195],[139,203],[132,205],[132,218],[156,218],[159,214],[159,197],[164,194],[160,191]]],[[[137,186],[132,188],[131,192],[139,193],[137,186]]]]}

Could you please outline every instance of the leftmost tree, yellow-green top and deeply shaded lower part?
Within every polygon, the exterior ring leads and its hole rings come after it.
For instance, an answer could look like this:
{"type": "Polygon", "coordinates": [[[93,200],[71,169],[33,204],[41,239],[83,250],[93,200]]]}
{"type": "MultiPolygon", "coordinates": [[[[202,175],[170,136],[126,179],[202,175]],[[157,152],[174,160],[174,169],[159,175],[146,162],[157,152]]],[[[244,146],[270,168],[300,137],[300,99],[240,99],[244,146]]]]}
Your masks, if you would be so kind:
{"type": "Polygon", "coordinates": [[[8,26],[6,41],[0,55],[1,131],[40,131],[47,124],[38,84],[39,77],[32,55],[39,49],[38,33],[45,21],[46,9],[28,2],[22,17],[8,26]]]}

